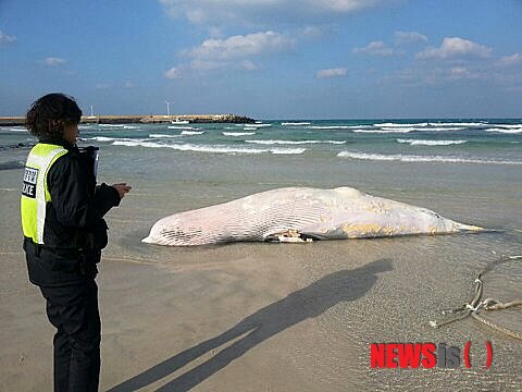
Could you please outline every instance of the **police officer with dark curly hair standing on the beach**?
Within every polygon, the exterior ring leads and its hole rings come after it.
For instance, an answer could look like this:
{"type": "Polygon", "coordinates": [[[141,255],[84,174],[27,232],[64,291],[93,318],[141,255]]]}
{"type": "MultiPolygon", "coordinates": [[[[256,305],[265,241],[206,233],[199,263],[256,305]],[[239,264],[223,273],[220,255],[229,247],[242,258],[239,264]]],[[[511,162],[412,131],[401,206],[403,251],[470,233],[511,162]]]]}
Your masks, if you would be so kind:
{"type": "Polygon", "coordinates": [[[48,94],[27,112],[38,137],[27,157],[21,213],[32,283],[47,301],[54,334],[54,391],[97,391],[101,323],[96,265],[105,247],[103,216],[130,191],[96,185],[95,159],[76,147],[82,111],[73,98],[48,94]]]}

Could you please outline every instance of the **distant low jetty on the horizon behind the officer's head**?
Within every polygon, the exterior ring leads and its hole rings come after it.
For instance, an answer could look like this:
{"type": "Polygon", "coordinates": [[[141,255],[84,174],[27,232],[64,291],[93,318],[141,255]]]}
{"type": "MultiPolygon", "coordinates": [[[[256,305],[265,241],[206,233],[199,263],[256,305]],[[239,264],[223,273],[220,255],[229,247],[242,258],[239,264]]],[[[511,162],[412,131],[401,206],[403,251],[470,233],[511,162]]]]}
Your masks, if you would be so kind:
{"type": "MultiPolygon", "coordinates": [[[[136,124],[136,123],[236,123],[252,124],[256,121],[245,115],[237,114],[174,114],[174,115],[83,115],[80,123],[84,124],[136,124]]],[[[0,126],[24,125],[23,117],[0,117],[0,126]]]]}

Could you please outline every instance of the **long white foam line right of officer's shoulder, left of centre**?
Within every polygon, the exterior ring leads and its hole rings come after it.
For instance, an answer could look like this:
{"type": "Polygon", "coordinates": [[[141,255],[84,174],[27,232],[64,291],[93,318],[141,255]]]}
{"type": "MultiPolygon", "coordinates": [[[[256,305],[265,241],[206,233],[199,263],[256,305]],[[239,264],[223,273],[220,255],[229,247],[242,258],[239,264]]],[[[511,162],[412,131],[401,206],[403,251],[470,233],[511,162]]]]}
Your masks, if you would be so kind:
{"type": "Polygon", "coordinates": [[[179,151],[197,151],[197,152],[215,152],[215,154],[302,154],[306,148],[249,148],[249,147],[231,147],[223,145],[195,145],[195,144],[162,144],[156,142],[139,140],[115,140],[115,146],[126,147],[147,147],[147,148],[172,148],[179,151]]]}

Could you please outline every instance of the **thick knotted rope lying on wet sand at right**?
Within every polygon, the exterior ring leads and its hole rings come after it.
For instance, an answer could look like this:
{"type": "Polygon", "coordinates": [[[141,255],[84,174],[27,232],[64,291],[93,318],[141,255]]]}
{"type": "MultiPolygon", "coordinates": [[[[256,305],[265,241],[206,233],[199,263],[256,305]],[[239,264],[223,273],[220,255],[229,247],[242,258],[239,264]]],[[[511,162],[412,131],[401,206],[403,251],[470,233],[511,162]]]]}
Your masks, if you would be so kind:
{"type": "Polygon", "coordinates": [[[442,322],[437,321],[430,321],[430,326],[433,328],[440,328],[444,326],[447,326],[451,322],[463,320],[464,318],[471,316],[475,320],[481,321],[482,323],[488,326],[489,328],[493,328],[499,332],[502,332],[511,338],[522,340],[522,333],[512,331],[510,329],[507,329],[506,327],[499,326],[492,320],[488,320],[487,318],[484,318],[481,316],[481,310],[499,310],[499,309],[507,309],[510,307],[514,306],[522,306],[522,301],[511,301],[507,303],[501,303],[499,301],[496,301],[494,298],[485,298],[481,301],[483,290],[484,290],[484,282],[482,281],[482,277],[486,274],[488,271],[490,271],[494,267],[507,262],[507,261],[512,261],[512,260],[520,260],[522,259],[522,256],[501,256],[497,260],[490,262],[489,265],[486,266],[481,272],[475,278],[474,283],[475,285],[475,295],[474,297],[469,302],[463,304],[461,307],[457,309],[446,309],[443,310],[443,315],[455,315],[452,318],[448,320],[444,320],[442,322]]]}

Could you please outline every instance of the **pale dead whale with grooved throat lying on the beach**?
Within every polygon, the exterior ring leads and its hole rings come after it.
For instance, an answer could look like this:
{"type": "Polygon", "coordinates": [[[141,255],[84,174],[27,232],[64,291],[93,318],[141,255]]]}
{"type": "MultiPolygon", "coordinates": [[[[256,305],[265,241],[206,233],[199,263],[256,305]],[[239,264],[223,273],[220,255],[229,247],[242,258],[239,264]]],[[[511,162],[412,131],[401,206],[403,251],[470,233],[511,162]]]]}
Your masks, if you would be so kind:
{"type": "Polygon", "coordinates": [[[145,243],[173,246],[238,241],[307,242],[411,234],[477,232],[426,208],[350,187],[286,187],[174,213],[152,226],[145,243]]]}

